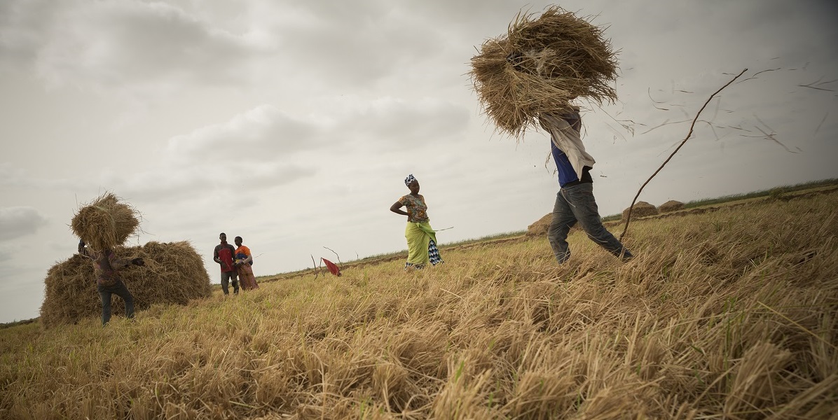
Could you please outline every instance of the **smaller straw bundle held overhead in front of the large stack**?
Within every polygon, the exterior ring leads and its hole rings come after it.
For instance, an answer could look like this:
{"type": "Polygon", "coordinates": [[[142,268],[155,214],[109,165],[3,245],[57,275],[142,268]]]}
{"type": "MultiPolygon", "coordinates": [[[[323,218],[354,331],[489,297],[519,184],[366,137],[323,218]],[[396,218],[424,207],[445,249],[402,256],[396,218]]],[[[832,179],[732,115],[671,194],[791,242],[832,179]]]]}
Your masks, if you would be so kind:
{"type": "Polygon", "coordinates": [[[110,192],[81,207],[70,228],[94,249],[110,249],[125,243],[140,225],[137,211],[110,192]]]}

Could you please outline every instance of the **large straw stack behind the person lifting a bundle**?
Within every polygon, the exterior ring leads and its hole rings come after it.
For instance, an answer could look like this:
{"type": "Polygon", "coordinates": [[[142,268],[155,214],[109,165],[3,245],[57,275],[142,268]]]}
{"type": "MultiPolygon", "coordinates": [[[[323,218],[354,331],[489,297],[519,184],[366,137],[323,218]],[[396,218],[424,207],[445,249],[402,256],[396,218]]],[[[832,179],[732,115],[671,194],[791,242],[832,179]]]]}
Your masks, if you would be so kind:
{"type": "MultiPolygon", "coordinates": [[[[186,305],[189,300],[209,297],[212,287],[202,259],[188,242],[149,242],[142,247],[116,247],[119,258],[142,257],[145,266],[121,271],[122,281],[134,296],[134,310],[154,304],[186,305]]],[[[90,259],[75,254],[49,269],[44,279],[44,303],[40,318],[44,326],[74,324],[86,317],[101,316],[96,275],[90,259]]],[[[124,315],[125,304],[115,296],[113,314],[124,315]]]]}

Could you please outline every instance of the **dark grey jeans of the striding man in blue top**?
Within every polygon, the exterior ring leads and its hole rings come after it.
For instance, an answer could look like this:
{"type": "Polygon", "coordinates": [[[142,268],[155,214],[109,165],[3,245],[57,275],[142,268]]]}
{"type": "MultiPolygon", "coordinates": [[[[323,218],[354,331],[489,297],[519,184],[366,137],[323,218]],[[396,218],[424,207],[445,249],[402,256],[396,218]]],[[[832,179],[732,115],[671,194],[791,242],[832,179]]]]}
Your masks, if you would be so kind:
{"type": "Polygon", "coordinates": [[[556,194],[556,205],[553,207],[553,220],[547,229],[547,238],[553,248],[553,255],[559,264],[564,263],[571,256],[567,248],[567,233],[573,225],[579,223],[580,228],[587,233],[587,237],[608,250],[616,257],[627,260],[632,257],[629,250],[623,248],[614,235],[603,226],[599,217],[597,202],[593,199],[593,184],[584,182],[572,187],[564,187],[556,194]]]}

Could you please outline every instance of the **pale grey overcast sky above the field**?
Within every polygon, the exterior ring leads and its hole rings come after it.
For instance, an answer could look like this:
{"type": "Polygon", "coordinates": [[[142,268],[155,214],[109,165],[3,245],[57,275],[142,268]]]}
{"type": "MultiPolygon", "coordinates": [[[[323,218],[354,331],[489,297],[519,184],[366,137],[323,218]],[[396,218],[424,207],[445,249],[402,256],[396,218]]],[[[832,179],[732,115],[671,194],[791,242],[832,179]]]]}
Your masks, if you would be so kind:
{"type": "MultiPolygon", "coordinates": [[[[215,283],[222,231],[257,275],[334,257],[323,247],[344,261],[406,248],[388,208],[410,173],[432,225],[453,227],[442,243],[525,229],[556,197],[549,142],[494,133],[469,60],[550,4],[3,0],[0,322],[39,315],[47,270],[75,252],[74,211],[106,191],[142,212],[130,244],[189,240],[215,283]]],[[[640,199],[838,177],[834,2],[559,5],[620,50],[619,102],[580,103],[603,216],[746,68],[640,199]]]]}

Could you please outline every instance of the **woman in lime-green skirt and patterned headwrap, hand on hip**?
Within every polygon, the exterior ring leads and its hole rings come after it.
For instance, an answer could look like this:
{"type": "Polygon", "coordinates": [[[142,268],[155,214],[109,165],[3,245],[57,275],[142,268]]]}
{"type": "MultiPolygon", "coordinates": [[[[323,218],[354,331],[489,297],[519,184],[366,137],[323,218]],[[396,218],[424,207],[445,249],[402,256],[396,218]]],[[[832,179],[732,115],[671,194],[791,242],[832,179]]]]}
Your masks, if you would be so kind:
{"type": "Polygon", "coordinates": [[[390,211],[407,216],[405,238],[407,238],[407,262],[405,269],[423,269],[428,263],[437,265],[442,263],[442,257],[437,249],[437,233],[431,228],[427,217],[425,197],[419,194],[419,182],[413,174],[405,178],[405,185],[411,193],[399,198],[393,203],[390,211]],[[407,211],[401,210],[406,207],[407,211]]]}

